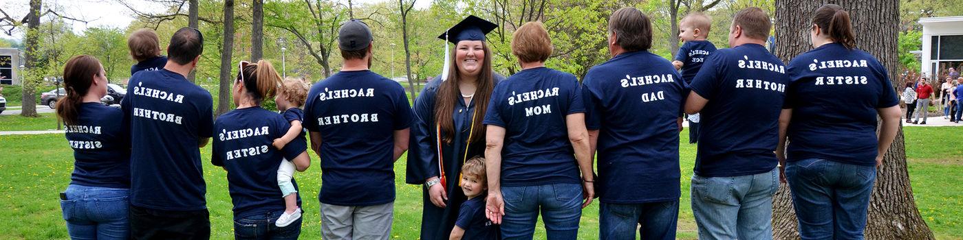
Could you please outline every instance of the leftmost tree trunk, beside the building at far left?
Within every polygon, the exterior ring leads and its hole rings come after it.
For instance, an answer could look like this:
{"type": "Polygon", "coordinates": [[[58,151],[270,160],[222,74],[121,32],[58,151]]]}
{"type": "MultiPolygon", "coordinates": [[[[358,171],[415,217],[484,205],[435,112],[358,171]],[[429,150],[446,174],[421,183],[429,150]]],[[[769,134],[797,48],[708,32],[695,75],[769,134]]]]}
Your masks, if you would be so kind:
{"type": "MultiPolygon", "coordinates": [[[[27,34],[24,45],[27,47],[27,54],[24,56],[24,67],[30,72],[20,84],[23,84],[21,98],[20,115],[25,117],[38,117],[37,114],[37,92],[36,87],[40,82],[37,61],[39,59],[39,35],[40,35],[40,0],[30,0],[30,12],[27,13],[27,34]]],[[[60,126],[60,125],[58,125],[60,126]]]]}

